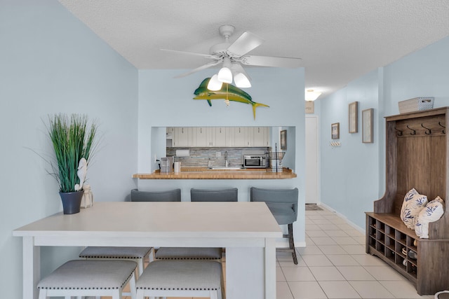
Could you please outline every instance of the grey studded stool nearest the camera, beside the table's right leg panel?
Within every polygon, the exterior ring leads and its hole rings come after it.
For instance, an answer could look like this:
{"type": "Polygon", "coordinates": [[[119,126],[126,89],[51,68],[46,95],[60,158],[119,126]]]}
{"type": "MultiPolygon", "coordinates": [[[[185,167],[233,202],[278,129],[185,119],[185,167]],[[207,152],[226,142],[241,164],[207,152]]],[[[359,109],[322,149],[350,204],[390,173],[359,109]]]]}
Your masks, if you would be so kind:
{"type": "Polygon", "coordinates": [[[222,265],[212,260],[155,260],[135,284],[137,298],[221,299],[222,265]]]}

